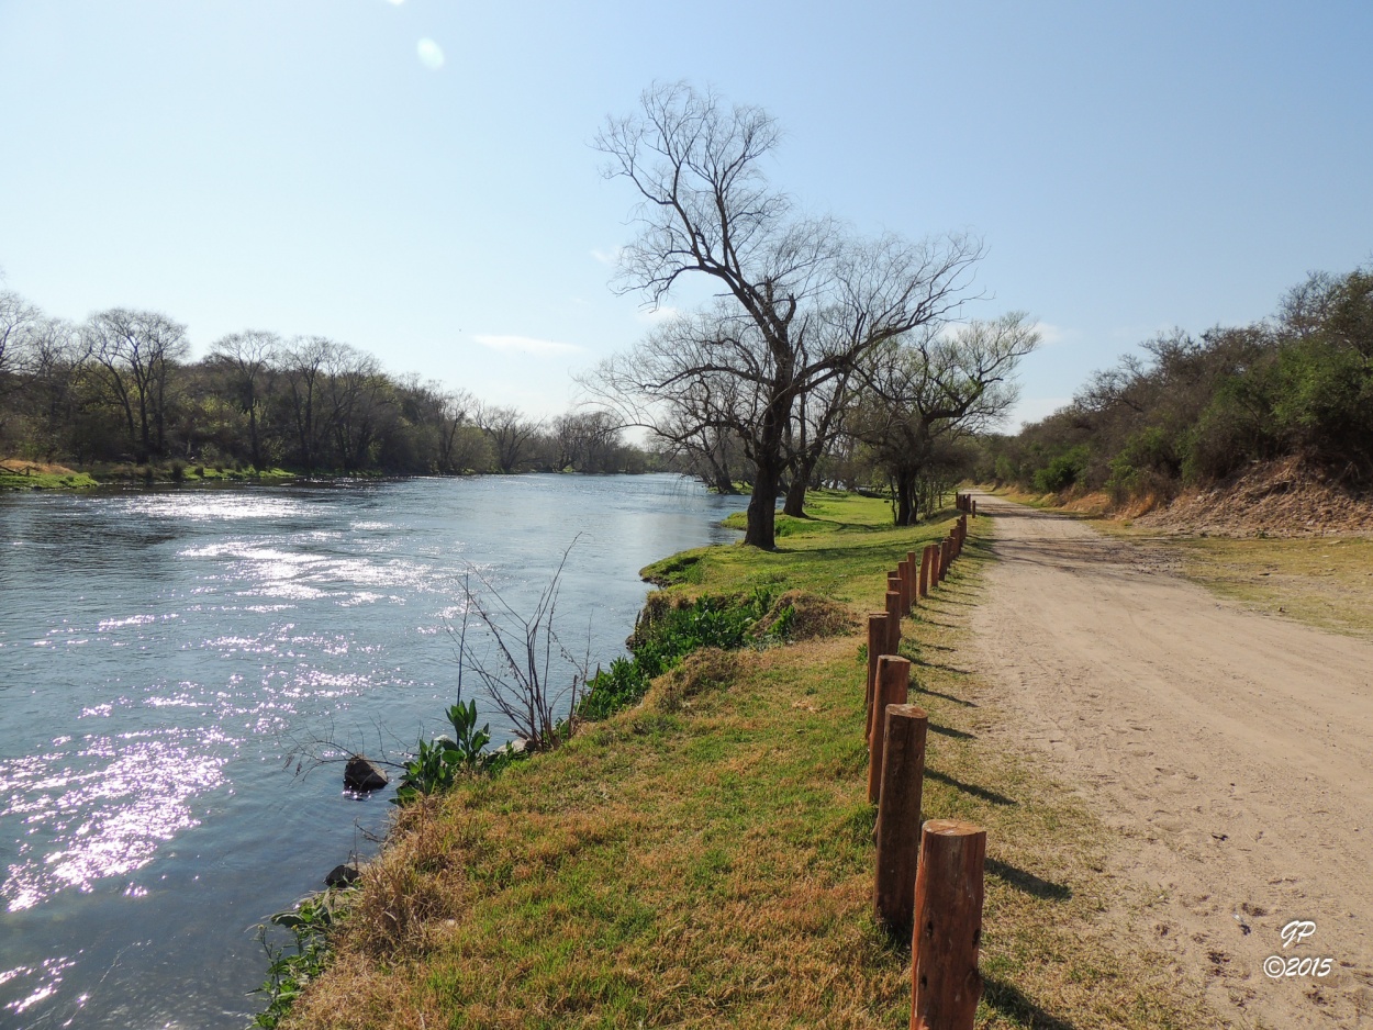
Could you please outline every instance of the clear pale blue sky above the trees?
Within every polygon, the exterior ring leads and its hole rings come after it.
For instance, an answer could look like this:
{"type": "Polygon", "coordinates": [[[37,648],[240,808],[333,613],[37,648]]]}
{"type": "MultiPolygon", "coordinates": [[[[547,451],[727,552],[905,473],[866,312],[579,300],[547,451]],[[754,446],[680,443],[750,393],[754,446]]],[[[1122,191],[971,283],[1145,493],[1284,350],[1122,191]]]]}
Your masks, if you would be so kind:
{"type": "Polygon", "coordinates": [[[1013,427],[1373,260],[1370,49],[1362,0],[0,0],[0,269],[196,356],[325,335],[557,413],[654,319],[610,288],[634,198],[592,140],[686,80],[780,121],[805,210],[982,238],[964,314],[1043,332],[1013,427]]]}

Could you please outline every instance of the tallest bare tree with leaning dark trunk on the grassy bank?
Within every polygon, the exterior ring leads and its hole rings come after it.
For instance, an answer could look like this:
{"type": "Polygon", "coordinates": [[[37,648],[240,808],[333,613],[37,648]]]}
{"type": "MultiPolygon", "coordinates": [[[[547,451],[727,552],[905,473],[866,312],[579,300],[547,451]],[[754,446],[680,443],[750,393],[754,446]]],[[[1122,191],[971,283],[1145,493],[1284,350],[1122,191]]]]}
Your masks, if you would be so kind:
{"type": "Polygon", "coordinates": [[[618,288],[656,306],[699,275],[721,297],[695,321],[674,323],[684,345],[676,360],[652,334],[643,360],[632,354],[601,382],[649,405],[684,383],[740,385],[732,400],[747,396],[741,438],[754,464],[744,542],[769,549],[798,398],[946,316],[980,255],[965,236],[859,240],[832,218],[798,214],[762,170],[778,135],[766,111],[678,82],[645,91],[638,111],[608,119],[596,139],[607,177],[629,180],[640,198],[618,288]]]}

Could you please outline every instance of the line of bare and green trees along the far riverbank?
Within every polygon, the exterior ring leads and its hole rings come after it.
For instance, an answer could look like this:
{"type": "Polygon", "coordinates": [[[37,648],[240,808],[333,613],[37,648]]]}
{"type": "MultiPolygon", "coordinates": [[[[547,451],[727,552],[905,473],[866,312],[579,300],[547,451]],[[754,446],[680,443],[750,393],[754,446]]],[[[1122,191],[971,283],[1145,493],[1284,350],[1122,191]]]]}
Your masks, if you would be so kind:
{"type": "Polygon", "coordinates": [[[641,472],[656,456],[604,411],[485,404],[324,336],[235,332],[188,358],[185,327],[114,308],[81,324],[0,290],[0,457],[302,472],[641,472]]]}

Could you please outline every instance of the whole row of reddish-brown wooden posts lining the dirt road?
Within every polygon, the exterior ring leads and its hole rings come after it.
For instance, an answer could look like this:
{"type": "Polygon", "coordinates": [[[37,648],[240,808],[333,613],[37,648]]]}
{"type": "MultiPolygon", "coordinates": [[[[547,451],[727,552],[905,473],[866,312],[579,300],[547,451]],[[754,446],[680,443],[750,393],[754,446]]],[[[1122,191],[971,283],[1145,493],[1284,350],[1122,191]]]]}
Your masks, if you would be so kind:
{"type": "Polygon", "coordinates": [[[894,931],[912,931],[912,1030],[969,1030],[982,997],[982,872],[987,834],[971,823],[921,825],[924,709],[908,703],[910,662],[897,651],[901,619],[943,582],[962,553],[976,501],[957,496],[953,530],[912,551],[887,575],[887,610],[868,617],[868,801],[877,805],[873,908],[894,931]]]}

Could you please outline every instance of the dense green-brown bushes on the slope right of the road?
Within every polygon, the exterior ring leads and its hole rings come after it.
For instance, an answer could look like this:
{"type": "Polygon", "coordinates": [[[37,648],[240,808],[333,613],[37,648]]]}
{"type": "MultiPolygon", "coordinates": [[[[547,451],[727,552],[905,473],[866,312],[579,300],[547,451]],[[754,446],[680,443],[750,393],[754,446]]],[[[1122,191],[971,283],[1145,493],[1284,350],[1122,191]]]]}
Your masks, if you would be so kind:
{"type": "Polygon", "coordinates": [[[1296,459],[1373,486],[1373,269],[1311,275],[1262,323],[1179,330],[1144,350],[1048,419],[991,438],[983,475],[1123,501],[1296,459]]]}

